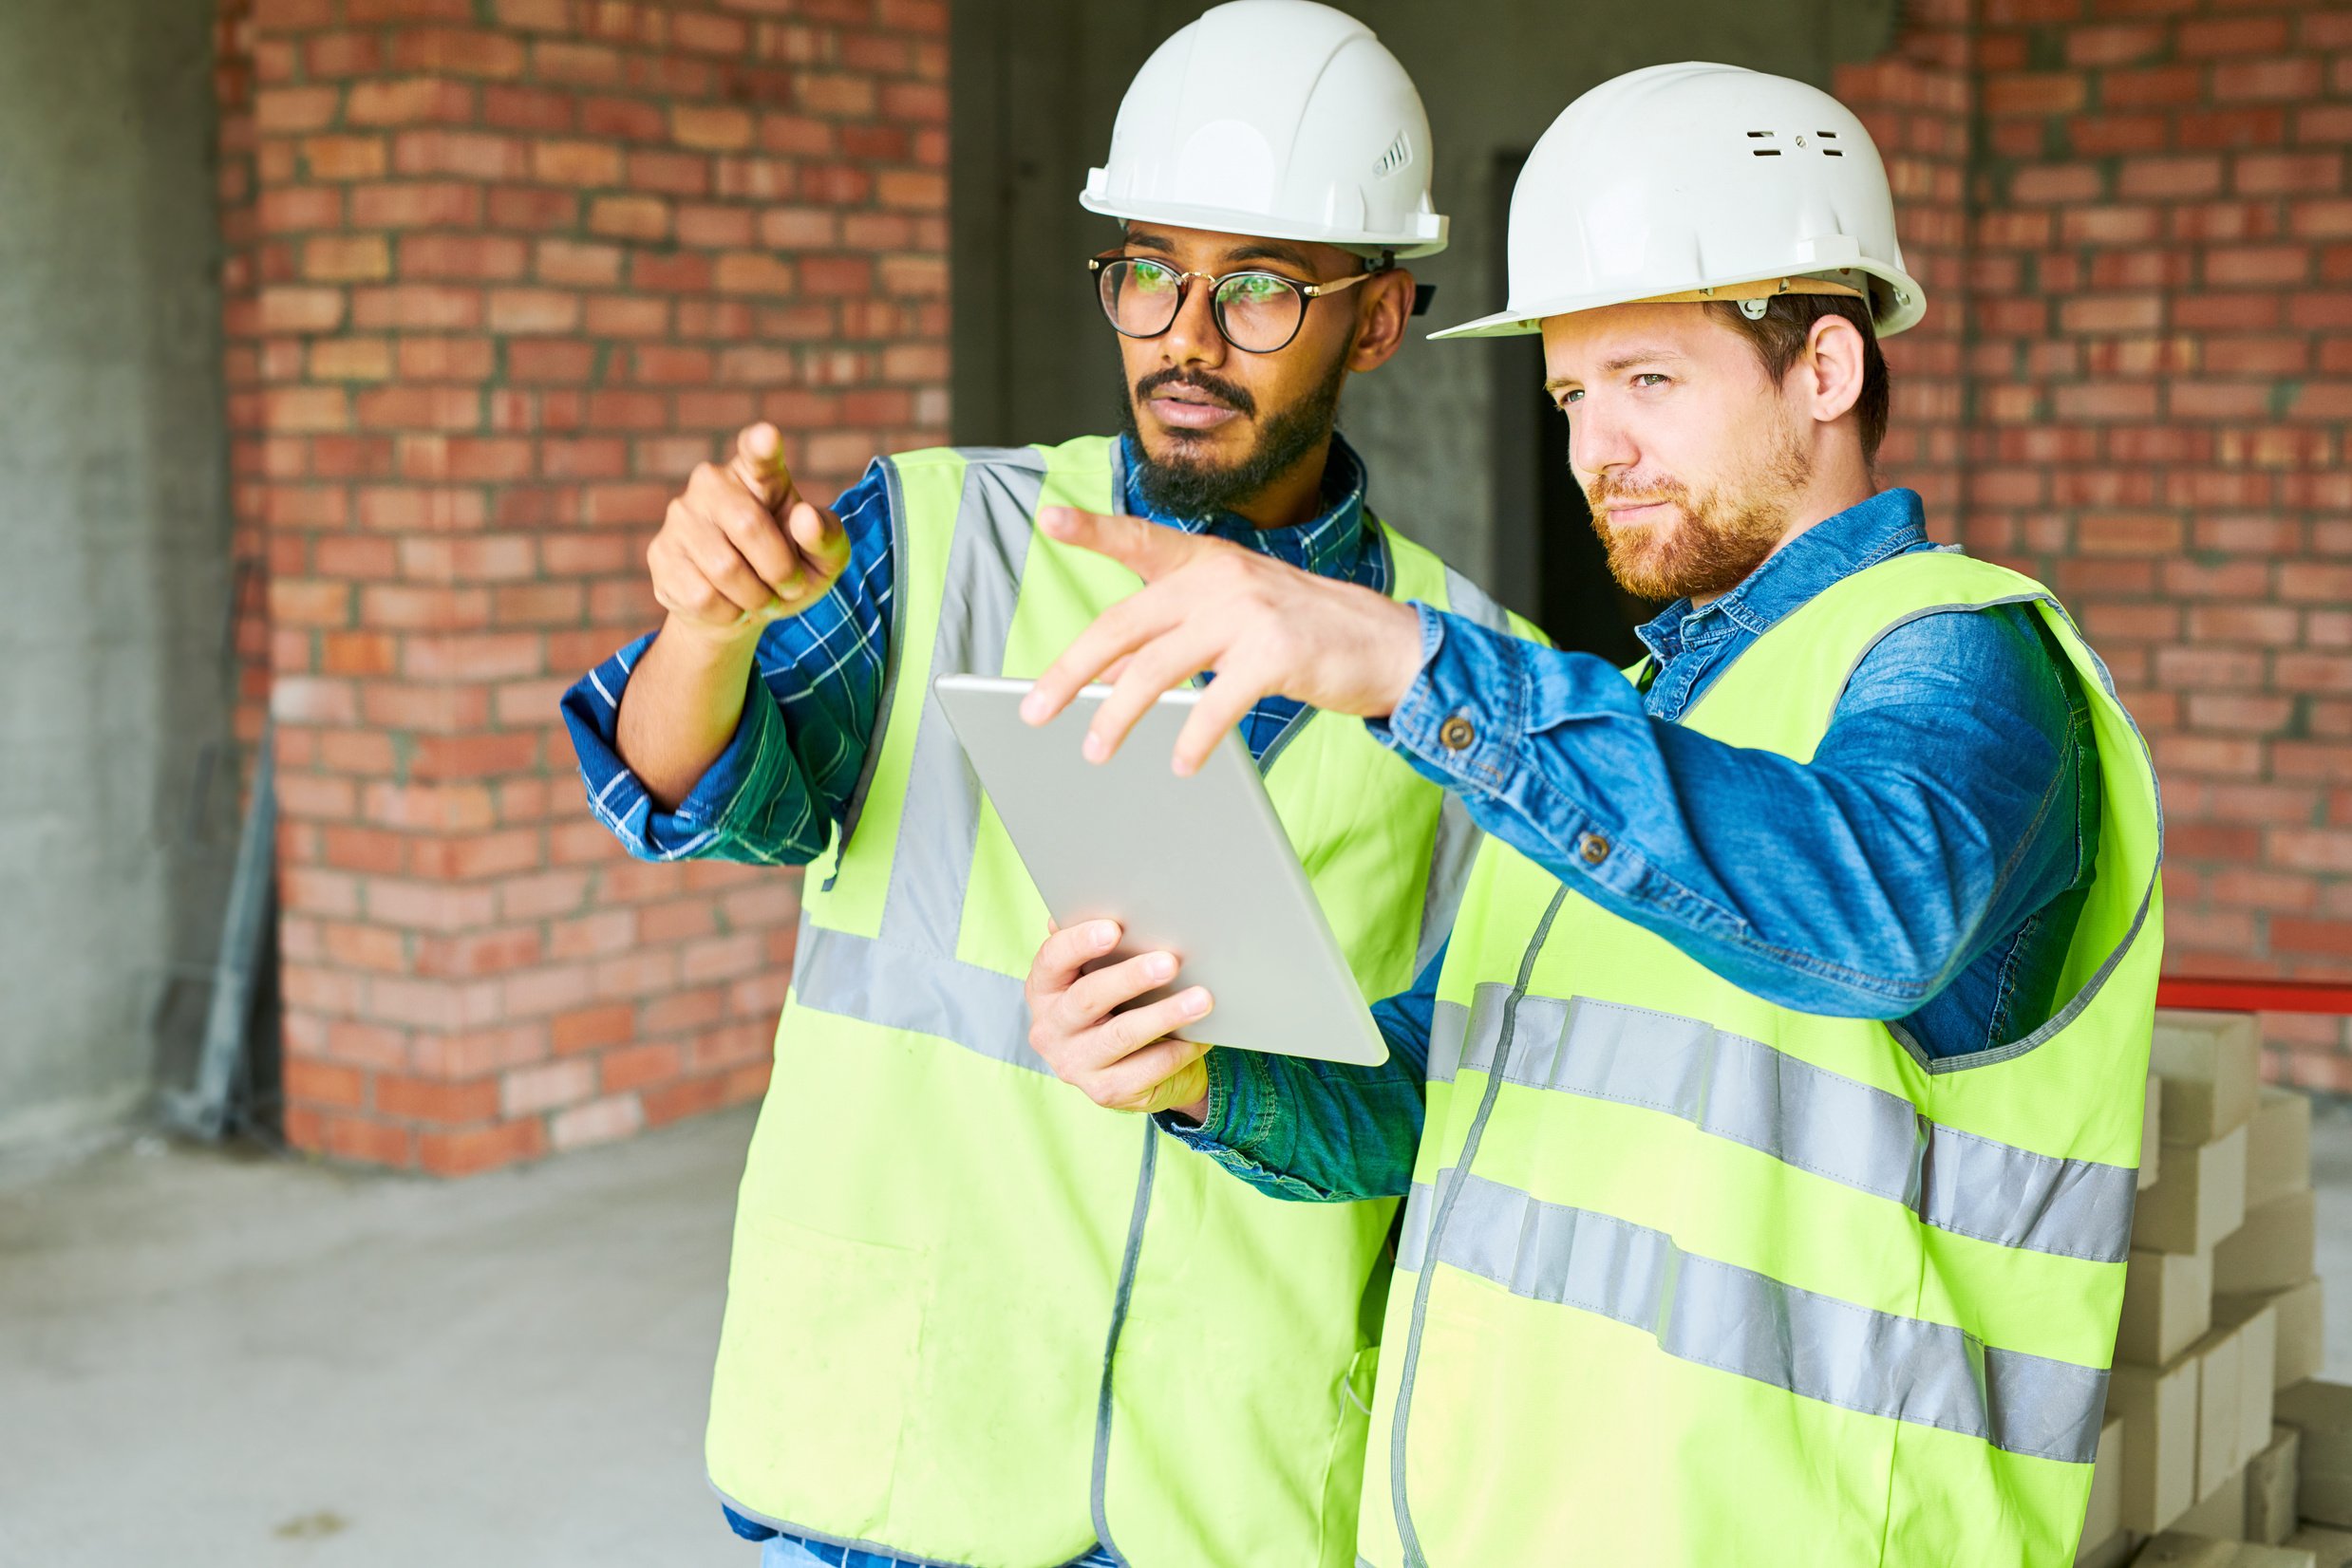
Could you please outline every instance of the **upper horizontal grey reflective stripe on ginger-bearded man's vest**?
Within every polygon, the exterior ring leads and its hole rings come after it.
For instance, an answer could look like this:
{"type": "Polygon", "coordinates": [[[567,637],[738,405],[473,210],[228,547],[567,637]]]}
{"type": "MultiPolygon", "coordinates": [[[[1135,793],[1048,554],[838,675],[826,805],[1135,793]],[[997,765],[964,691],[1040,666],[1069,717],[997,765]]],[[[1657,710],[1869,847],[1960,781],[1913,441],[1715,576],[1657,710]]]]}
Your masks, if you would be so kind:
{"type": "MultiPolygon", "coordinates": [[[[1430,1081],[1489,1070],[1505,985],[1439,1004],[1430,1081]]],[[[2131,1251],[2131,1166],[2056,1159],[1929,1121],[1910,1100],[1700,1018],[1524,997],[1505,1081],[1639,1105],[1910,1208],[1924,1225],[2089,1262],[2131,1251]]]]}

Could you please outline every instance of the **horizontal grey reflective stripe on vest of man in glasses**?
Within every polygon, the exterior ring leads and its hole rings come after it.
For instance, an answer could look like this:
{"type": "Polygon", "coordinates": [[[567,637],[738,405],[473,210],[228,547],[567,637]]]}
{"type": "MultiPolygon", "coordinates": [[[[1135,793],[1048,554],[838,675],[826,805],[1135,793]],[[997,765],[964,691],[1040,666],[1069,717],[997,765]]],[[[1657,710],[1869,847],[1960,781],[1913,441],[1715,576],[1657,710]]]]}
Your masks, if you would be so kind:
{"type": "Polygon", "coordinates": [[[934,1034],[1011,1067],[1051,1072],[1028,1044],[1021,980],[995,969],[828,931],[804,917],[793,994],[818,1013],[934,1034]]]}

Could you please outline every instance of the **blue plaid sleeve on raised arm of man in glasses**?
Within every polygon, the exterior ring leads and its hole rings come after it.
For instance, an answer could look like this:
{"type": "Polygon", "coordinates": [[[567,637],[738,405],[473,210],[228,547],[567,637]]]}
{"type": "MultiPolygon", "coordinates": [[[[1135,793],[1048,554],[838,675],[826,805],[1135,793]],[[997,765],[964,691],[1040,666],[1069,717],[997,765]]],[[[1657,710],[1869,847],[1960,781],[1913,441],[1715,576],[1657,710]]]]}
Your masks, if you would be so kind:
{"type": "Polygon", "coordinates": [[[833,592],[760,635],[743,717],[675,811],[616,750],[621,693],[652,635],[564,693],[588,806],[640,860],[807,865],[849,809],[889,672],[891,527],[882,465],[835,503],[849,567],[833,592]]]}

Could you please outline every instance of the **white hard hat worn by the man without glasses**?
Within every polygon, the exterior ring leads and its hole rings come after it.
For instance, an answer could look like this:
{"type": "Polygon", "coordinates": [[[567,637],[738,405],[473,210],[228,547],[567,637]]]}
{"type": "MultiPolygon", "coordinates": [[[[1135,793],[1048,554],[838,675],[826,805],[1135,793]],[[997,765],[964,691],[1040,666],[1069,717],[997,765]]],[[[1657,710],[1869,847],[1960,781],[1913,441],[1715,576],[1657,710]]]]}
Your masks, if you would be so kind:
{"type": "Polygon", "coordinates": [[[1844,103],[1740,66],[1651,66],[1559,110],[1510,193],[1510,306],[1432,339],[1658,299],[1860,294],[1877,334],[1926,313],[1896,202],[1844,103]]]}

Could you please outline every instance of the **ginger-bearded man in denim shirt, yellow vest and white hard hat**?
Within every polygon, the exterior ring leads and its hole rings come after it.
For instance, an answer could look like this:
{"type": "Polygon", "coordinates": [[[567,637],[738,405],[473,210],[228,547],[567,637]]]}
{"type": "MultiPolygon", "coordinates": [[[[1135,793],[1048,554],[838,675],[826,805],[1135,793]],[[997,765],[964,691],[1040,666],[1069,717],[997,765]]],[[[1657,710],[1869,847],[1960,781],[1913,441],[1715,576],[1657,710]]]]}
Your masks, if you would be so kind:
{"type": "Polygon", "coordinates": [[[1033,719],[1124,661],[1108,755],[1169,670],[1214,668],[1178,769],[1284,691],[1364,715],[1494,835],[1439,973],[1383,1013],[1421,1121],[1294,1058],[1138,1051],[1115,1016],[1138,973],[1084,973],[1094,924],[1030,971],[1037,1046],[1094,1100],[1272,1192],[1409,1194],[1376,1568],[2072,1561],[2161,830],[2049,590],[1938,548],[1872,473],[1877,339],[1922,310],[1844,106],[1656,66],[1543,136],[1510,308],[1456,329],[1543,331],[1611,567],[1675,599],[1635,670],[1047,520],[1152,585],[1033,719]]]}

